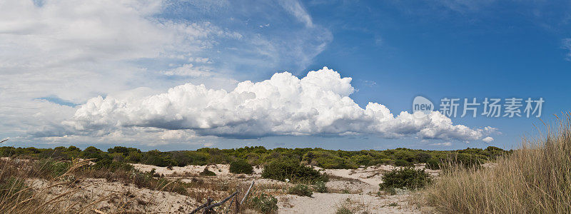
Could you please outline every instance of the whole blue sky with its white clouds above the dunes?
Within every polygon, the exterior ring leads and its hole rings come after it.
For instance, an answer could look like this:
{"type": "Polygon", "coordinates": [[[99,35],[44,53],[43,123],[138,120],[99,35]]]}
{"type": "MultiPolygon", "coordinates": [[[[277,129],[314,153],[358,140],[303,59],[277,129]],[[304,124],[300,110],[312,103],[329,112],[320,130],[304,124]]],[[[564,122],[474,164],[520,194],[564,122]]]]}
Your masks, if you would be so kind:
{"type": "Polygon", "coordinates": [[[570,9],[567,1],[5,1],[0,138],[160,150],[514,148],[569,110],[570,9]],[[400,115],[413,113],[415,96],[436,106],[445,97],[545,103],[541,118],[400,115]]]}

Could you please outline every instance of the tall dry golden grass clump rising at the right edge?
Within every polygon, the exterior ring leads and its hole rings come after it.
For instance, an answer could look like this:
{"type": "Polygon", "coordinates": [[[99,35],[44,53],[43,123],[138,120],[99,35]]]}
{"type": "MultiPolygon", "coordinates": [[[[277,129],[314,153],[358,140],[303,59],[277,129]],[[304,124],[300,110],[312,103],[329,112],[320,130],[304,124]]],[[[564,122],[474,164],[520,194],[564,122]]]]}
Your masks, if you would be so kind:
{"type": "Polygon", "coordinates": [[[489,167],[448,163],[425,190],[443,213],[571,213],[571,115],[489,167]]]}

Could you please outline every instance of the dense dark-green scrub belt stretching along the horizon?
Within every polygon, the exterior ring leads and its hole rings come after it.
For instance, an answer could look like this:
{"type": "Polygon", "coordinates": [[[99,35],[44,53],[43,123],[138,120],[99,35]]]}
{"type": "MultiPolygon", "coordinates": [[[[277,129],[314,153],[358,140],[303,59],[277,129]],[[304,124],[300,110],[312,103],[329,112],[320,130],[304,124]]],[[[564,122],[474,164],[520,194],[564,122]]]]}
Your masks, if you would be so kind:
{"type": "MultiPolygon", "coordinates": [[[[425,151],[409,148],[396,148],[384,151],[334,151],[323,148],[273,148],[263,146],[218,149],[200,148],[196,151],[141,151],[137,148],[115,146],[101,151],[90,146],[84,150],[76,146],[56,148],[14,148],[0,147],[0,157],[42,159],[53,158],[60,161],[71,161],[74,158],[96,158],[96,162],[143,163],[156,166],[185,166],[208,164],[241,164],[266,165],[275,161],[288,161],[300,165],[313,165],[330,169],[355,169],[360,165],[397,165],[413,166],[427,163],[427,167],[438,169],[439,163],[453,159],[464,165],[479,165],[497,156],[511,151],[489,146],[482,148],[466,148],[457,151],[425,151]]],[[[236,165],[237,166],[237,165],[236,165]]],[[[243,170],[248,169],[244,168],[243,170]]],[[[241,169],[242,170],[242,169],[241,169]]]]}

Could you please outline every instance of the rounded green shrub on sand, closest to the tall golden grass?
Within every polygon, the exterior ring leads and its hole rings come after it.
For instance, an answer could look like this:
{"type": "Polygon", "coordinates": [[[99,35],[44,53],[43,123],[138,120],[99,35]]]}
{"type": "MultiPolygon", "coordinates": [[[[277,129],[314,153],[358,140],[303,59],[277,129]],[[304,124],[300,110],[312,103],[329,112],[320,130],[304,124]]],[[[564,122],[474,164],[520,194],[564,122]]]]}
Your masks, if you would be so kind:
{"type": "Polygon", "coordinates": [[[415,170],[414,168],[401,168],[393,170],[383,175],[383,183],[380,183],[380,189],[388,188],[407,188],[410,190],[423,188],[430,183],[430,175],[424,170],[415,170]]]}

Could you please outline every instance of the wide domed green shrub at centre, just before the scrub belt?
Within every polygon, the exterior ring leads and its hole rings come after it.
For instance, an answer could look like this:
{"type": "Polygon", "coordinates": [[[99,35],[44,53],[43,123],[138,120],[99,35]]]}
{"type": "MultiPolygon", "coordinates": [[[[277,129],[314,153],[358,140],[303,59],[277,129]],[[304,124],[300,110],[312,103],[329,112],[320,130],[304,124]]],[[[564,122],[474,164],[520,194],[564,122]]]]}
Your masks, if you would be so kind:
{"type": "Polygon", "coordinates": [[[328,180],[317,170],[290,161],[273,161],[266,165],[262,171],[262,178],[281,181],[287,178],[294,183],[315,183],[328,180]]]}

